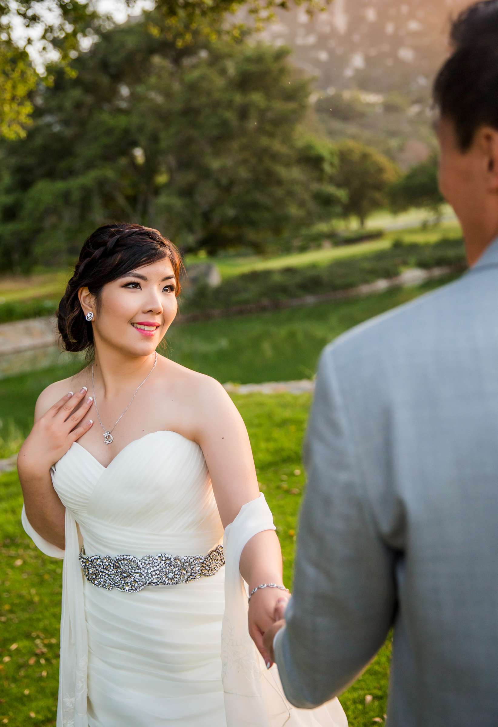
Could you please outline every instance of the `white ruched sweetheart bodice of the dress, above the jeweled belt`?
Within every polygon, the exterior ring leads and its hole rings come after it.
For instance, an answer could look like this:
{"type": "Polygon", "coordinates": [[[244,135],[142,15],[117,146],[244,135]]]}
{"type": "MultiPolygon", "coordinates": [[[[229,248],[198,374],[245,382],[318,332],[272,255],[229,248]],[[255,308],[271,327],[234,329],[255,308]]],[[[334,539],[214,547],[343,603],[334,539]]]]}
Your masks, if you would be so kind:
{"type": "Polygon", "coordinates": [[[52,483],[93,555],[207,553],[223,526],[198,443],[170,430],[130,442],[104,467],[79,442],[52,467],[52,483]]]}

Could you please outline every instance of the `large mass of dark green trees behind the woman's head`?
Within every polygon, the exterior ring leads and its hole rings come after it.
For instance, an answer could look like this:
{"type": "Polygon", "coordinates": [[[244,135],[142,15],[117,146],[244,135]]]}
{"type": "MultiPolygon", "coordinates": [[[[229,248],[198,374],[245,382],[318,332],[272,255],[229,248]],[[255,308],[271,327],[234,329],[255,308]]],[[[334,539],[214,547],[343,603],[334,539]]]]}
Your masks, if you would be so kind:
{"type": "Polygon", "coordinates": [[[337,155],[300,132],[310,81],[288,55],[178,49],[134,23],[76,59],[76,79],[52,68],[25,140],[0,144],[0,270],[69,264],[108,220],[214,254],[262,252],[329,219],[337,155]]]}

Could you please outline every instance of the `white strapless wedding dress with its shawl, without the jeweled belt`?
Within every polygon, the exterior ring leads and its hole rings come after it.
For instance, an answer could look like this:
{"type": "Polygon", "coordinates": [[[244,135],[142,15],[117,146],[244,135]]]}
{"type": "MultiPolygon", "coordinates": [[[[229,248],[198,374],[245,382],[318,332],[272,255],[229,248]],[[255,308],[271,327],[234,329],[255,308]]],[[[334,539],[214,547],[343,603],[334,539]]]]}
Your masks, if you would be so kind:
{"type": "MultiPolygon", "coordinates": [[[[79,442],[51,467],[65,505],[57,727],[345,727],[340,702],[313,710],[286,700],[247,632],[238,571],[252,535],[275,529],[260,497],[223,530],[202,449],[161,430],[132,441],[104,467],[79,442]],[[135,593],[90,583],[78,555],[205,555],[224,547],[216,574],[135,593]]],[[[236,484],[234,483],[234,486],[236,484]]]]}

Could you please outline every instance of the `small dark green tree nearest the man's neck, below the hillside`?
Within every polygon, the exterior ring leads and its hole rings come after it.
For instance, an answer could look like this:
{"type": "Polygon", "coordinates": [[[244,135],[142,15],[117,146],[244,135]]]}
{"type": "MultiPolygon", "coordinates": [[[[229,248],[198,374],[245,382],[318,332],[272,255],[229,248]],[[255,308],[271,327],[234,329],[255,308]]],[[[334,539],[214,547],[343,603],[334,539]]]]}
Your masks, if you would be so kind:
{"type": "Polygon", "coordinates": [[[435,220],[441,220],[444,198],[438,183],[438,156],[432,154],[422,164],[412,166],[388,190],[390,209],[397,214],[410,207],[427,209],[435,220]]]}

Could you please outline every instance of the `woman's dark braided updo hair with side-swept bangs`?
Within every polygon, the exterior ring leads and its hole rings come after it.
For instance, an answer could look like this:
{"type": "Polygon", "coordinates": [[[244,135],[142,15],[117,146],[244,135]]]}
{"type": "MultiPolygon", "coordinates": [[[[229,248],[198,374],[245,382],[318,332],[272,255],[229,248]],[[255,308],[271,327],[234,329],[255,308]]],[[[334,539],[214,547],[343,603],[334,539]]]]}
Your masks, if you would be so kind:
{"type": "Polygon", "coordinates": [[[180,294],[180,273],[185,270],[180,251],[158,230],[136,222],[102,225],[84,241],[73,276],[57,308],[57,328],[65,351],[85,351],[87,364],[95,355],[92,324],[84,316],[78,297],[81,287],[95,296],[95,313],[101,310],[103,286],[142,265],[168,258],[180,294]]]}

